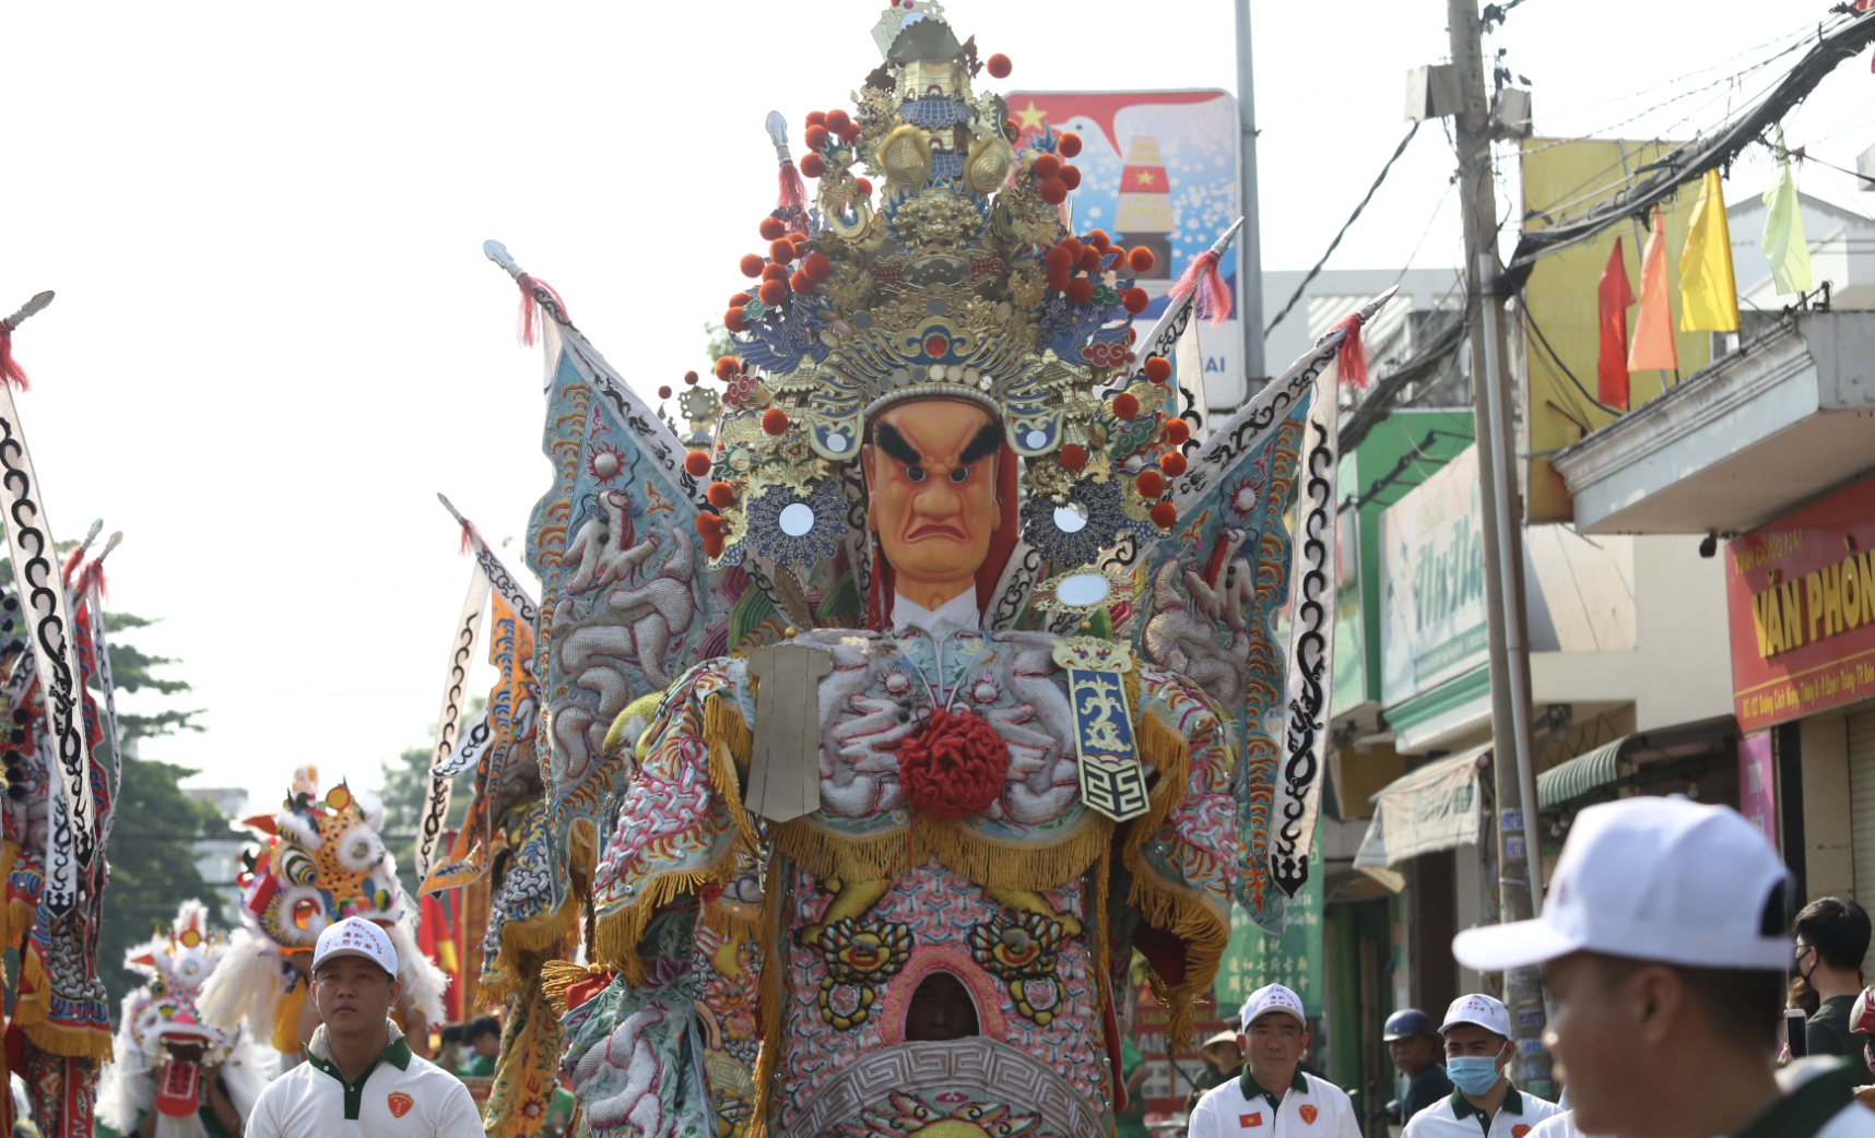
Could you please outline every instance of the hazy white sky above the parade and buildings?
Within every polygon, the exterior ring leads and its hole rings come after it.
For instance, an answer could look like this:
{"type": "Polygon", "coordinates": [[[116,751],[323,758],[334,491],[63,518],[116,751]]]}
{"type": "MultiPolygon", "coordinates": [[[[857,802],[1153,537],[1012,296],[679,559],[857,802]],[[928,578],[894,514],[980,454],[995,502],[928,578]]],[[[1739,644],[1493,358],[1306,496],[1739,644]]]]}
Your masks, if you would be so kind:
{"type": "MultiPolygon", "coordinates": [[[[516,289],[482,240],[557,285],[641,390],[703,369],[701,322],[774,206],[763,114],[799,137],[806,111],[849,105],[879,7],[8,9],[0,313],[58,291],[15,337],[49,516],[58,536],[124,531],[112,607],[163,619],[137,643],[182,658],[182,705],[208,711],[204,735],[146,757],[272,804],[298,763],[368,789],[428,742],[469,576],[435,491],[514,538],[519,568],[549,480],[540,358],[516,347],[516,289]]],[[[1738,71],[1824,9],[1528,0],[1492,51],[1532,81],[1538,129],[1575,135],[1738,71]]],[[[949,17],[1014,60],[979,81],[998,90],[1236,88],[1230,0],[956,0],[949,17]]],[[[1254,30],[1264,264],[1307,268],[1406,129],[1406,69],[1444,58],[1444,4],[1256,0],[1254,30]]],[[[1710,127],[1761,77],[1611,137],[1710,127]]],[[[1459,261],[1451,148],[1427,127],[1331,268],[1459,261]]],[[[1852,169],[1875,142],[1868,52],[1787,133],[1852,169]]],[[[1766,174],[1749,154],[1729,197],[1766,174]]],[[[1813,165],[1800,182],[1875,202],[1813,165]]]]}

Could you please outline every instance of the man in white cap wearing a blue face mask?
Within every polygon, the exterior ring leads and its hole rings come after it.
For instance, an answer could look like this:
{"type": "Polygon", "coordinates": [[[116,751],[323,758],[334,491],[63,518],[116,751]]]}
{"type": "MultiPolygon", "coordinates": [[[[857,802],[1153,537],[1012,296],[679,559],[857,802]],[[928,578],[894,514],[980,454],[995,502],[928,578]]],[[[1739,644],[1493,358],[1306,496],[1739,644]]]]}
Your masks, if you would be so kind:
{"type": "Polygon", "coordinates": [[[1412,1116],[1401,1138],[1524,1138],[1562,1114],[1554,1102],[1524,1095],[1504,1078],[1515,1048],[1511,1014],[1491,996],[1461,996],[1438,1029],[1446,1041],[1451,1095],[1412,1116]]]}

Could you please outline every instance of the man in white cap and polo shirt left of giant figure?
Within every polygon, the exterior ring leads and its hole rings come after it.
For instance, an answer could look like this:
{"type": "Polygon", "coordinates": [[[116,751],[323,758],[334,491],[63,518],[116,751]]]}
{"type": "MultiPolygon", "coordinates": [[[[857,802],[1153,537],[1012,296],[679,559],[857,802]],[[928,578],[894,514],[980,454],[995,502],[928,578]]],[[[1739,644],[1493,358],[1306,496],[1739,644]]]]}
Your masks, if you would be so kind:
{"type": "Polygon", "coordinates": [[[322,1024],[306,1063],[276,1078],[248,1117],[246,1138],[482,1138],[469,1087],[411,1054],[390,1022],[398,951],[362,917],[319,934],[313,1001],[322,1024]]]}

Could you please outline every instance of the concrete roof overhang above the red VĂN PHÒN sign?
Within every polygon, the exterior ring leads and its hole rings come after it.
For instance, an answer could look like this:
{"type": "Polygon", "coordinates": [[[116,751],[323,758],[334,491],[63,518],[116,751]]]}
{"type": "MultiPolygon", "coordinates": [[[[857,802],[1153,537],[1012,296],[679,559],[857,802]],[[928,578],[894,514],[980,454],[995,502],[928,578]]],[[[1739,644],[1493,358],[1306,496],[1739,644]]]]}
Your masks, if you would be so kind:
{"type": "Polygon", "coordinates": [[[1875,471],[1875,311],[1796,313],[1552,463],[1584,534],[1772,521],[1875,471]]]}

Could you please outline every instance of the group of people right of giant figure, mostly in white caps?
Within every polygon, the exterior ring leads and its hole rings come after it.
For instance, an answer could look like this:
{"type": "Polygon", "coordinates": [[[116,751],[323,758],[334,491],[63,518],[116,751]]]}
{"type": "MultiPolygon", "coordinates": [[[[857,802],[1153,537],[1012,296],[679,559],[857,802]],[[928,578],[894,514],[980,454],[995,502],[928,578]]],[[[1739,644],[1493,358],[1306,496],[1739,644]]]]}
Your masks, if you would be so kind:
{"type": "MultiPolygon", "coordinates": [[[[1453,941],[1479,973],[1541,967],[1562,1102],[1511,1086],[1511,1012],[1474,992],[1436,1024],[1418,1009],[1386,1024],[1402,1138],[1875,1136],[1869,917],[1822,898],[1791,921],[1789,902],[1778,853],[1732,810],[1584,810],[1543,915],[1453,941]],[[1789,1039],[1785,1007],[1806,1012],[1789,1039]]],[[[1359,1136],[1348,1095],[1303,1071],[1307,1050],[1301,999],[1252,992],[1239,1031],[1206,1041],[1189,1138],[1359,1136]]]]}

